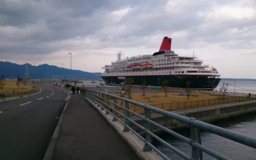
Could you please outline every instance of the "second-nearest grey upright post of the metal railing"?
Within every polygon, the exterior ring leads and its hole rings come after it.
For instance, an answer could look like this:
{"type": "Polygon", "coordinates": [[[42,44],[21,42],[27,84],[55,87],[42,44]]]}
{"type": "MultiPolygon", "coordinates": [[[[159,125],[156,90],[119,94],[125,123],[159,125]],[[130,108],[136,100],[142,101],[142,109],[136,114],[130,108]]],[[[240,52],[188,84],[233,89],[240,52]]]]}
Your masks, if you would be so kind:
{"type": "MultiPolygon", "coordinates": [[[[145,117],[146,117],[146,119],[151,119],[150,110],[145,109],[145,117]]],[[[151,123],[146,121],[146,126],[145,126],[145,128],[146,128],[147,131],[150,131],[150,132],[151,132],[151,123]]],[[[145,136],[146,136],[146,139],[145,139],[145,140],[146,140],[147,142],[149,142],[149,143],[152,143],[152,137],[151,137],[151,135],[150,135],[149,133],[146,133],[145,136]]],[[[143,151],[151,151],[151,150],[152,150],[152,148],[151,148],[149,145],[147,145],[147,144],[145,143],[145,146],[143,147],[143,151]]]]}

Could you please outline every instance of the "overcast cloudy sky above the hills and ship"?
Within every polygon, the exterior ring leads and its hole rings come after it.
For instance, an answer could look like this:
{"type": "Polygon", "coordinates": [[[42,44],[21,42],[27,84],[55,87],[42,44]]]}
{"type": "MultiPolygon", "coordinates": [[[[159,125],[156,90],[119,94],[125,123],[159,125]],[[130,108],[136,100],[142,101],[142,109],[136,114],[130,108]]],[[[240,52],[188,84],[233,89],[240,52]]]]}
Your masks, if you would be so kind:
{"type": "Polygon", "coordinates": [[[194,54],[222,77],[256,78],[255,0],[0,0],[0,61],[102,72],[126,56],[194,54]]]}

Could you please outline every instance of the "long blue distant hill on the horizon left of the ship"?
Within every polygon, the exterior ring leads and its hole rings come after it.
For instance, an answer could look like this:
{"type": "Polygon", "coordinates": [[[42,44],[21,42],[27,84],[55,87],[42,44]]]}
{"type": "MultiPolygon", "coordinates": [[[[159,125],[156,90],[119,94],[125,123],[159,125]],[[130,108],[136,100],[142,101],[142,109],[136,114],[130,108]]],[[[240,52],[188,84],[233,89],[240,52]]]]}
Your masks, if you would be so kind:
{"type": "MultiPolygon", "coordinates": [[[[17,75],[25,77],[25,65],[0,61],[0,75],[5,75],[6,79],[17,78],[17,75]]],[[[61,79],[69,78],[69,75],[70,69],[47,64],[39,66],[32,66],[29,64],[30,79],[61,79]]],[[[71,77],[72,79],[101,79],[101,73],[72,70],[71,77]]]]}

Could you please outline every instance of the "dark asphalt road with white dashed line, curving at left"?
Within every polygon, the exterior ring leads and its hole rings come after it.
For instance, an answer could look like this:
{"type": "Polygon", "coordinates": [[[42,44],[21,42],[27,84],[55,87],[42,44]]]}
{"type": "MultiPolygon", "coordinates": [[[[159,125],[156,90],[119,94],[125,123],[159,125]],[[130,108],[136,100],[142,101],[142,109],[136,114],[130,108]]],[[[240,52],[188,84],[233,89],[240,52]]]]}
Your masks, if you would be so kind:
{"type": "Polygon", "coordinates": [[[39,160],[49,145],[66,93],[35,84],[42,93],[0,102],[0,159],[39,160]]]}

